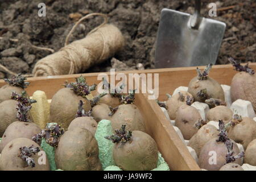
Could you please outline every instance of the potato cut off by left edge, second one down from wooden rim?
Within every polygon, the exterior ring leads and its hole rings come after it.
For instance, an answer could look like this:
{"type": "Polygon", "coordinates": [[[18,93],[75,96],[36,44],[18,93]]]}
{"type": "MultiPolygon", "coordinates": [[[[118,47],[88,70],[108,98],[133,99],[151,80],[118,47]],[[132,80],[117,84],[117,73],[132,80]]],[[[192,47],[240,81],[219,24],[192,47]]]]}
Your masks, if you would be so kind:
{"type": "Polygon", "coordinates": [[[17,101],[6,100],[0,103],[0,137],[3,136],[7,127],[17,121],[17,101]]]}

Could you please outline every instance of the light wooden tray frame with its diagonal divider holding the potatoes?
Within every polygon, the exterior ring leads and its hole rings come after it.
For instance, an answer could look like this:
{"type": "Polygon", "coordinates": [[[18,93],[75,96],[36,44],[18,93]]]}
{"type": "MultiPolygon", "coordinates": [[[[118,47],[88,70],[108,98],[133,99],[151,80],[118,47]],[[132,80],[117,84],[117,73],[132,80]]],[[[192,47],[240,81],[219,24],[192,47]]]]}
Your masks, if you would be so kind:
{"type": "MultiPolygon", "coordinates": [[[[256,63],[251,63],[250,67],[256,70],[256,63]]],[[[204,69],[205,67],[199,68],[204,69]]],[[[122,73],[159,73],[159,100],[166,100],[166,93],[171,94],[177,87],[188,85],[189,81],[196,76],[196,67],[147,69],[144,71],[127,71],[122,73]]],[[[107,74],[109,75],[109,73],[107,74]]],[[[230,85],[235,74],[236,71],[233,70],[232,65],[214,65],[210,71],[210,77],[217,80],[220,84],[226,85],[230,85]]],[[[74,81],[80,75],[28,78],[31,84],[26,90],[30,96],[36,90],[42,90],[46,92],[47,98],[52,98],[57,90],[63,88],[61,85],[64,84],[64,81],[74,81]]],[[[97,80],[98,73],[82,75],[85,76],[88,84],[98,84],[100,82],[100,80],[97,80]]],[[[5,82],[1,80],[0,86],[3,85],[5,85],[5,82]]],[[[147,133],[155,139],[159,151],[170,168],[172,170],[200,170],[187,147],[176,134],[174,127],[166,119],[156,102],[148,100],[147,94],[135,94],[135,96],[135,105],[142,111],[146,120],[147,133]]]]}

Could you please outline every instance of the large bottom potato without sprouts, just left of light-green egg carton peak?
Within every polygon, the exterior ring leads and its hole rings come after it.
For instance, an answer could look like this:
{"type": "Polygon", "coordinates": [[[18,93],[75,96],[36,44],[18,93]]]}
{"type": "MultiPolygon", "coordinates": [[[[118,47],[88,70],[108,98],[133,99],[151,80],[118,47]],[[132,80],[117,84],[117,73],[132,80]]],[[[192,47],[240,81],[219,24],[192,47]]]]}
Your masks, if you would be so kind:
{"type": "Polygon", "coordinates": [[[55,162],[64,171],[99,171],[98,143],[89,130],[76,127],[66,131],[55,150],[55,162]]]}

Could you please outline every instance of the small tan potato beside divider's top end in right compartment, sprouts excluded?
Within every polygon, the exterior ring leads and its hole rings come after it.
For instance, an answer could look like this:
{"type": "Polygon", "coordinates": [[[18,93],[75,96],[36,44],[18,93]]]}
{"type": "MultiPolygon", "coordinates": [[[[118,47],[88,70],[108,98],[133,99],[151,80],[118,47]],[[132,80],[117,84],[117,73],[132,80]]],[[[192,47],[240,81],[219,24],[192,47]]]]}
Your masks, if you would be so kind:
{"type": "MultiPolygon", "coordinates": [[[[168,111],[168,115],[169,115],[170,119],[176,118],[177,110],[179,109],[179,107],[181,105],[186,104],[187,96],[193,98],[193,96],[186,91],[180,91],[180,93],[182,93],[183,96],[185,97],[184,101],[179,100],[179,97],[180,97],[179,93],[175,94],[168,101],[166,101],[166,105],[168,107],[167,111],[168,111]]],[[[193,103],[193,100],[192,100],[192,103],[193,103]]]]}

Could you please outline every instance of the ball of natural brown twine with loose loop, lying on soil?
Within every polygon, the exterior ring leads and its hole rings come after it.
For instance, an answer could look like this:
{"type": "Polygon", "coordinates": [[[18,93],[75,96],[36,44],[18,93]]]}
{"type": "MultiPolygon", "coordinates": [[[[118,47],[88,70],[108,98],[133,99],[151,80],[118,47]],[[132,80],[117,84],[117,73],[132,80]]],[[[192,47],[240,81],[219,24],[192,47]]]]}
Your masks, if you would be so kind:
{"type": "Polygon", "coordinates": [[[121,31],[108,21],[105,14],[92,13],[81,18],[69,32],[65,47],[60,51],[44,57],[36,63],[32,74],[34,77],[50,75],[68,75],[81,73],[95,64],[115,55],[124,45],[121,31]],[[90,16],[104,17],[104,23],[89,32],[84,39],[68,44],[68,39],[79,23],[90,16]]]}

